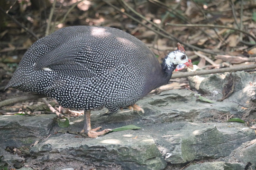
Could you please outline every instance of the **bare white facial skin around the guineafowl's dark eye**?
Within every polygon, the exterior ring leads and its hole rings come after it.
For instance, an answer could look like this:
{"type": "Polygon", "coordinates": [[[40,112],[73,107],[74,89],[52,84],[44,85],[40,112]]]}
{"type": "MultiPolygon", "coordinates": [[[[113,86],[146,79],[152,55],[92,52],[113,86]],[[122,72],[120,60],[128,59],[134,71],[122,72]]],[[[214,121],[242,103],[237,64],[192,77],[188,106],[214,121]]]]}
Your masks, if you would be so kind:
{"type": "Polygon", "coordinates": [[[188,62],[188,57],[185,53],[179,50],[170,52],[166,58],[166,64],[169,66],[171,66],[172,63],[179,65],[184,64],[185,62],[188,62]]]}

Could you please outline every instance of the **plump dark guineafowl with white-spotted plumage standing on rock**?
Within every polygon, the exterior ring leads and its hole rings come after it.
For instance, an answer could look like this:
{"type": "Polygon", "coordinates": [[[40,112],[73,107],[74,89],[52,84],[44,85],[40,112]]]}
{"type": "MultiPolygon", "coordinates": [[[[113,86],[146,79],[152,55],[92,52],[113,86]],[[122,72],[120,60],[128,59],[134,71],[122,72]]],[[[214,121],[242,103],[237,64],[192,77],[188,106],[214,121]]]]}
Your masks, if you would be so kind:
{"type": "Polygon", "coordinates": [[[162,64],[145,43],[112,27],[68,26],[26,51],[5,89],[54,98],[62,107],[84,110],[82,133],[95,138],[111,129],[91,128],[91,110],[143,110],[136,102],[170,80],[174,69],[192,68],[183,46],[162,64]]]}

